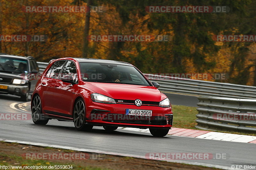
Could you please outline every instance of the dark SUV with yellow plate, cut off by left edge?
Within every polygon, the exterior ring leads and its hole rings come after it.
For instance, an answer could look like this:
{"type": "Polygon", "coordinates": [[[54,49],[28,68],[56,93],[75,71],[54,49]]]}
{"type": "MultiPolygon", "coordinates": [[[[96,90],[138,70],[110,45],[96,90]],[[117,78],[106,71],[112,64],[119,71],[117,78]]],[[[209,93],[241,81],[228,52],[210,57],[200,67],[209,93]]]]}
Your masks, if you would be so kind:
{"type": "Polygon", "coordinates": [[[28,101],[38,73],[34,57],[0,53],[0,93],[17,95],[22,101],[28,101]]]}

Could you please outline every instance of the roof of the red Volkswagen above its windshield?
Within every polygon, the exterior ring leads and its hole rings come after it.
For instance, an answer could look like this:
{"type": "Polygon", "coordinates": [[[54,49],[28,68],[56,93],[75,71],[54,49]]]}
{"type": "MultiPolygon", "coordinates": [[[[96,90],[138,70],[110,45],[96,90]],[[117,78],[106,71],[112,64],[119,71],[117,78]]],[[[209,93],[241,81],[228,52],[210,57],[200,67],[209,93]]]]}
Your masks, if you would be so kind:
{"type": "Polygon", "coordinates": [[[122,62],[122,61],[114,61],[114,60],[105,60],[105,59],[97,59],[97,58],[73,58],[79,63],[106,63],[106,64],[119,64],[119,65],[129,65],[130,63],[122,62]]]}

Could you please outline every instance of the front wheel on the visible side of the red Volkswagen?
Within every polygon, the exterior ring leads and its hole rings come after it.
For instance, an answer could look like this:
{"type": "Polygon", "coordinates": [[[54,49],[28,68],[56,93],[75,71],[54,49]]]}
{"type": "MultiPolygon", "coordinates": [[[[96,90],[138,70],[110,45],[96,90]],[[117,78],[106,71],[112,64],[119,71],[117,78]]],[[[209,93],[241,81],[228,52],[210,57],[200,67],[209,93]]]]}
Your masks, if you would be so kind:
{"type": "Polygon", "coordinates": [[[85,107],[84,101],[82,99],[78,99],[76,101],[74,111],[73,111],[73,120],[74,125],[77,130],[80,131],[90,131],[93,126],[85,124],[85,107]]]}

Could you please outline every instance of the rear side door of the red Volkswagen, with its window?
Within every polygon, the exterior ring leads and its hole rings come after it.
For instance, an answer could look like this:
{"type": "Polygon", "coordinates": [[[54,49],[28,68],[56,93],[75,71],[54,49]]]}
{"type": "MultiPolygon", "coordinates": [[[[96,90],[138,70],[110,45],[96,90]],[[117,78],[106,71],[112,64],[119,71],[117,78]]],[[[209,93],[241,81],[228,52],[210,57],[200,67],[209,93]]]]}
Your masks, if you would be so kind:
{"type": "Polygon", "coordinates": [[[41,81],[43,97],[42,97],[42,109],[48,114],[53,114],[54,103],[53,92],[55,90],[55,85],[57,78],[59,77],[60,70],[65,64],[66,60],[57,61],[52,64],[44,78],[41,81]]]}

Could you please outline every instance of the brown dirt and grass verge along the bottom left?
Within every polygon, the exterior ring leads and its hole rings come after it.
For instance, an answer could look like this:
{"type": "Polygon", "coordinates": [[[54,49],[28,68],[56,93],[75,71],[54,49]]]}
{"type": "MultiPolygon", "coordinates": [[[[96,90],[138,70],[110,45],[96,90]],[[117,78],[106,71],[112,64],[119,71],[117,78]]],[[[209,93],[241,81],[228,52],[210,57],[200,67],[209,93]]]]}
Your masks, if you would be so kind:
{"type": "MultiPolygon", "coordinates": [[[[69,170],[159,170],[159,169],[192,169],[192,170],[213,170],[216,168],[187,165],[172,163],[166,161],[148,160],[148,159],[138,159],[131,157],[122,157],[115,155],[105,155],[101,154],[101,159],[54,159],[54,160],[36,160],[36,159],[26,159],[24,154],[35,154],[35,153],[83,153],[71,150],[63,150],[57,148],[45,148],[40,146],[31,146],[25,144],[7,143],[0,142],[0,167],[2,166],[55,166],[55,165],[68,165],[72,166],[69,170]]],[[[89,155],[95,153],[87,153],[89,155]]],[[[32,157],[31,157],[32,158],[32,157]]],[[[99,158],[99,157],[98,157],[99,158]]],[[[3,169],[3,168],[1,168],[3,169]]],[[[14,168],[15,169],[15,168],[14,168]]],[[[24,169],[24,168],[16,168],[24,169]]],[[[33,168],[35,169],[35,168],[33,168]]],[[[42,168],[38,168],[42,169],[42,168]]],[[[44,169],[44,168],[43,168],[44,169]]],[[[50,168],[46,168],[50,169],[50,168]]],[[[58,169],[58,168],[52,168],[58,169]]],[[[59,168],[68,169],[68,168],[59,168]]]]}

